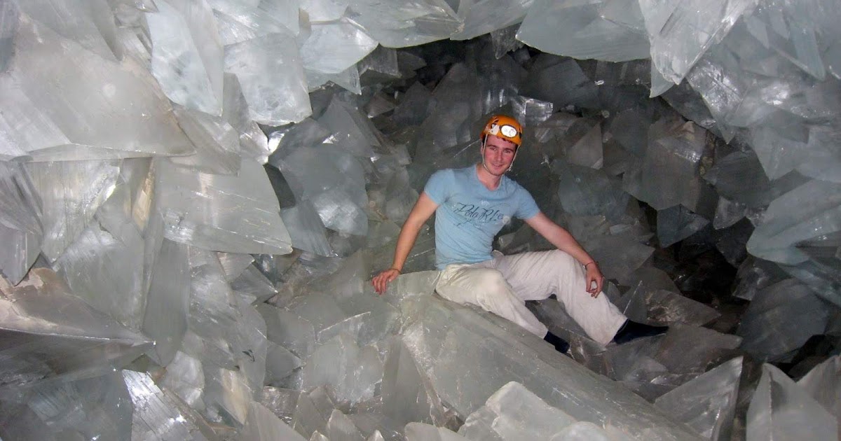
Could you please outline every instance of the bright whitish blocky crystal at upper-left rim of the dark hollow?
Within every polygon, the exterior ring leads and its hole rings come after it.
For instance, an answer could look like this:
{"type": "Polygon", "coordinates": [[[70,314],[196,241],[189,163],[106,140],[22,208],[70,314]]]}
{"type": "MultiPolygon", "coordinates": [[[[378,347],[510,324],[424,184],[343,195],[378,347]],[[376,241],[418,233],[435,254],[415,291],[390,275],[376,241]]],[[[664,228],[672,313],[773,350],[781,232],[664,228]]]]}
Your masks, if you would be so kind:
{"type": "Polygon", "coordinates": [[[251,119],[267,125],[297,123],[312,113],[298,46],[288,32],[225,47],[225,71],[240,81],[251,119]]]}

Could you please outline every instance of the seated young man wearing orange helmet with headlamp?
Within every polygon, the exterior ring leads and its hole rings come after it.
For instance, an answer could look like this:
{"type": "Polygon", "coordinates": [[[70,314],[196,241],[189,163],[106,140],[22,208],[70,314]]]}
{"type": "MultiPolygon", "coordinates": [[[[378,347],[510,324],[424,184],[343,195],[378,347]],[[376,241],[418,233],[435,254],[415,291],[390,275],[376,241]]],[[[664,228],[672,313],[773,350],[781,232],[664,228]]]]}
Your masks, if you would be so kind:
{"type": "Polygon", "coordinates": [[[464,169],[436,171],[403,224],[391,268],[373,278],[382,294],[399,276],[415,239],[432,213],[435,217],[435,286],[441,296],[470,303],[509,319],[566,352],[569,344],[526,308],[526,300],[552,294],[591,339],[600,344],[624,343],[664,333],[627,320],[606,296],[598,263],[567,230],[541,213],[534,198],[505,176],[521,144],[522,128],[514,118],[491,117],[482,130],[482,162],[464,169]],[[492,252],[494,236],[511,217],[522,218],[558,249],[501,255],[492,252]]]}

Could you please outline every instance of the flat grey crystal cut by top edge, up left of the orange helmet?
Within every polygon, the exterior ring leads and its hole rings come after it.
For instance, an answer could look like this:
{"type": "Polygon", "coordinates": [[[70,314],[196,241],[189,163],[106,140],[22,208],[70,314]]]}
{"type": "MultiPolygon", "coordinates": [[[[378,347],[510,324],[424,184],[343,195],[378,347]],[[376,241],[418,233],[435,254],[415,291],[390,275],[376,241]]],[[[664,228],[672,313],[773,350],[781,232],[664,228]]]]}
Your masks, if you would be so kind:
{"type": "Polygon", "coordinates": [[[388,48],[423,45],[446,39],[462,29],[463,23],[445,0],[399,0],[383,10],[376,0],[352,3],[347,18],[388,48]]]}

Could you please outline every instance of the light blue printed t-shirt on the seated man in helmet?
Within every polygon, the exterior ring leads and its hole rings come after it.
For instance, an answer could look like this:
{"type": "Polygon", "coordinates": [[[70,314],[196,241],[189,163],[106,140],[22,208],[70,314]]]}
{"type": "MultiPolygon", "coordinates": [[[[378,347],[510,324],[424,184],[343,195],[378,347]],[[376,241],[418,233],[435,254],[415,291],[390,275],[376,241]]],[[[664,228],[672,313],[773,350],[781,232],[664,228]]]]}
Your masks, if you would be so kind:
{"type": "Polygon", "coordinates": [[[525,188],[502,176],[488,190],[476,166],[436,171],[424,192],[438,204],[435,213],[435,260],[439,270],[450,264],[490,260],[494,236],[511,217],[528,219],[540,209],[525,188]]]}

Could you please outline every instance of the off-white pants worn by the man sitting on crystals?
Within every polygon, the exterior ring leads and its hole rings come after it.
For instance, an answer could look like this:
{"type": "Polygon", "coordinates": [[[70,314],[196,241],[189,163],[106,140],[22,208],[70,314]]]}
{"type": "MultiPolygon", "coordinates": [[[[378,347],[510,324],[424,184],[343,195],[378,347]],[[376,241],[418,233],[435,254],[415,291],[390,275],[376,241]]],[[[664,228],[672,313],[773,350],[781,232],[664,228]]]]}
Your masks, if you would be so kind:
{"type": "Polygon", "coordinates": [[[435,286],[441,296],[469,303],[507,318],[543,337],[547,328],[526,308],[526,300],[552,294],[576,323],[596,342],[610,343],[625,316],[604,293],[587,292],[584,267],[560,250],[501,255],[473,265],[447,265],[435,286]]]}

